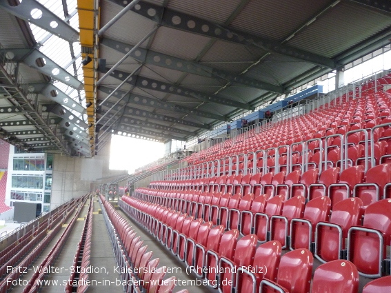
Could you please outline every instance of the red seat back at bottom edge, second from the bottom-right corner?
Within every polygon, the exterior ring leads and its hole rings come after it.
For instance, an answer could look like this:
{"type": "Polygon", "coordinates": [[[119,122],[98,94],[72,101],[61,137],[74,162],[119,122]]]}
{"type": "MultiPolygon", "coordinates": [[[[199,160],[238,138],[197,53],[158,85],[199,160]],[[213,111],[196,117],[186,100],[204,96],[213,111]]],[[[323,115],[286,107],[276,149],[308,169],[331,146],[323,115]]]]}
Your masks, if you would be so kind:
{"type": "Polygon", "coordinates": [[[330,261],[317,267],[314,272],[311,293],[357,293],[358,290],[359,272],[350,261],[330,261]]]}

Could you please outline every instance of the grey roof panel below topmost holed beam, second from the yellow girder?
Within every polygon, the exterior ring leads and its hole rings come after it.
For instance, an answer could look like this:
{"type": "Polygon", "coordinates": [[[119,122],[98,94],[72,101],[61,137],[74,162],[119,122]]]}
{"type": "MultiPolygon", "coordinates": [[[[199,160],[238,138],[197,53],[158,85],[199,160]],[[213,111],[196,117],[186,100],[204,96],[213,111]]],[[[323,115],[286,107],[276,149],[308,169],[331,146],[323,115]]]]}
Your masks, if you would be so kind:
{"type": "Polygon", "coordinates": [[[151,50],[186,60],[194,60],[208,41],[210,38],[199,34],[162,26],[154,35],[151,50]]]}

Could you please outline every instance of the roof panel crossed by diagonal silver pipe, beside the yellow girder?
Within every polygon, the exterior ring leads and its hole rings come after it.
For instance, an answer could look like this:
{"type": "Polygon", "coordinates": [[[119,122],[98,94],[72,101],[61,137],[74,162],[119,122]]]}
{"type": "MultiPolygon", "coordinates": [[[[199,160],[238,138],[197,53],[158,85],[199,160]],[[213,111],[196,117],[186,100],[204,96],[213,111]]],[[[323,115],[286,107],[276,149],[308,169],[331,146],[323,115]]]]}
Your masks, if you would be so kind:
{"type": "MultiPolygon", "coordinates": [[[[115,17],[123,7],[110,1],[101,1],[101,28],[115,17]]],[[[126,12],[121,19],[106,30],[103,37],[123,43],[136,44],[154,28],[156,23],[134,12],[126,12]]],[[[148,40],[143,43],[146,46],[148,40]]]]}

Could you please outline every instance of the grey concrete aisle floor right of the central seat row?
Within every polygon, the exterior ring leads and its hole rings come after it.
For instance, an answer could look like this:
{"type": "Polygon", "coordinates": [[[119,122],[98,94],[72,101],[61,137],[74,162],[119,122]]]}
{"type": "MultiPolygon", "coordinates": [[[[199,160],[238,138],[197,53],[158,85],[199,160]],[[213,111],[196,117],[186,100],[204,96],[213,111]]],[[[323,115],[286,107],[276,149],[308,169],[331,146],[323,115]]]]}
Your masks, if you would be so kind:
{"type": "MultiPolygon", "coordinates": [[[[124,219],[127,219],[132,225],[132,228],[134,228],[134,231],[137,232],[137,236],[140,236],[141,239],[144,241],[143,245],[148,245],[147,252],[151,251],[153,252],[152,259],[156,259],[159,257],[160,263],[159,267],[166,266],[170,268],[173,272],[170,274],[166,274],[164,279],[168,279],[170,276],[175,276],[177,279],[183,280],[183,281],[190,281],[189,283],[193,283],[197,280],[197,276],[194,276],[192,274],[188,275],[186,274],[186,264],[182,263],[177,259],[177,256],[174,256],[169,252],[163,245],[155,239],[153,236],[151,236],[146,230],[144,230],[141,226],[139,226],[137,223],[132,221],[124,212],[121,210],[118,211],[121,216],[123,216],[124,219]],[[178,268],[178,269],[177,269],[178,268]]],[[[202,280],[202,279],[201,279],[202,280]]],[[[179,290],[187,289],[191,293],[198,293],[198,292],[214,292],[216,293],[217,290],[214,290],[208,286],[205,285],[177,285],[174,287],[174,292],[178,292],[179,290]]]]}

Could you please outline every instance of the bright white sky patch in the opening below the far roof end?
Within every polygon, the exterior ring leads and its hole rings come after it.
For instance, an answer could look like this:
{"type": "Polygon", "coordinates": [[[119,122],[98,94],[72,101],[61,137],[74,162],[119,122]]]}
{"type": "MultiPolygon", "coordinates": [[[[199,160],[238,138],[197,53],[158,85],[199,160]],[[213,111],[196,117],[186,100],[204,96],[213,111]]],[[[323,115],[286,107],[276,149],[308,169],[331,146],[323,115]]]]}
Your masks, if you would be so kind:
{"type": "Polygon", "coordinates": [[[164,156],[164,144],[144,139],[114,135],[110,146],[110,170],[135,169],[164,156]]]}

